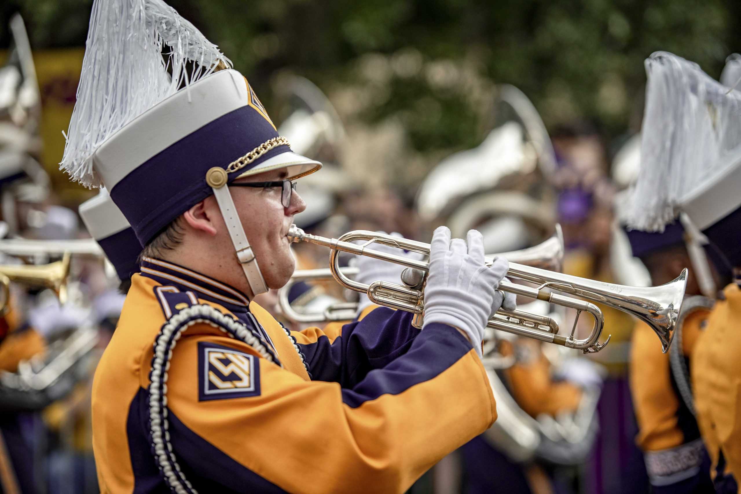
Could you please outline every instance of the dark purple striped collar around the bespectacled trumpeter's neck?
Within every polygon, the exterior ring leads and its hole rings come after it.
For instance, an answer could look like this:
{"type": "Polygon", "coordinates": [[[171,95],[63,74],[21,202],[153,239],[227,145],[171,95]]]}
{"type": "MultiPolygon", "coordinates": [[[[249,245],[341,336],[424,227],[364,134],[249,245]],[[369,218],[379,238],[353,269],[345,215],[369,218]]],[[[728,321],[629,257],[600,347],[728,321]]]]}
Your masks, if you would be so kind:
{"type": "Polygon", "coordinates": [[[226,283],[216,281],[205,274],[168,261],[144,257],[142,276],[151,278],[162,285],[170,285],[180,291],[194,291],[199,298],[216,302],[232,312],[249,311],[250,299],[241,291],[226,283]]]}

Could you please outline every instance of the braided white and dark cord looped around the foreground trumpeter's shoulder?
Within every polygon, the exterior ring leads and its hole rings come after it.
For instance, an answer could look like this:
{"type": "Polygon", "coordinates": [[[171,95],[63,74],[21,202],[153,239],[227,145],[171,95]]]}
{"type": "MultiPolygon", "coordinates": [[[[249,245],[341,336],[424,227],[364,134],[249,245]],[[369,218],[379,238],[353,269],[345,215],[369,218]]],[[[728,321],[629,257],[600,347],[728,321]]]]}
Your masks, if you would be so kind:
{"type": "Polygon", "coordinates": [[[190,484],[182,473],[173,452],[173,445],[170,444],[167,371],[170,370],[170,359],[173,357],[173,349],[178,339],[187,328],[197,323],[219,328],[230,338],[250,345],[268,362],[276,362],[268,348],[262,345],[246,325],[222,314],[210,305],[191,305],[165,322],[154,342],[149,385],[149,423],[155,460],[165,477],[165,482],[177,494],[198,494],[198,491],[193,489],[193,484],[190,484]]]}

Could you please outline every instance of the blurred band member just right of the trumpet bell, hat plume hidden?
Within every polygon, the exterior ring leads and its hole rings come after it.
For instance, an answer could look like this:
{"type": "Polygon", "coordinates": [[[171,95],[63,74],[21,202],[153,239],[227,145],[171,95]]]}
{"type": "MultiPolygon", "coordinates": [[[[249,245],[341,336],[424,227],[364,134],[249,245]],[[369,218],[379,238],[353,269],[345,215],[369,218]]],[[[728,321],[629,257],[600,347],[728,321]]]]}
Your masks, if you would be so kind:
{"type": "MultiPolygon", "coordinates": [[[[654,285],[674,280],[691,266],[679,220],[662,233],[628,231],[634,257],[651,275],[654,285]]],[[[700,293],[694,271],[688,279],[685,302],[674,345],[681,362],[672,365],[670,353],[662,353],[651,328],[637,322],[631,339],[630,383],[639,433],[636,442],[643,451],[648,479],[654,493],[712,493],[709,459],[700,439],[691,402],[679,389],[686,388],[690,355],[708,317],[707,299],[700,293]],[[679,383],[679,384],[678,384],[679,383]]]]}

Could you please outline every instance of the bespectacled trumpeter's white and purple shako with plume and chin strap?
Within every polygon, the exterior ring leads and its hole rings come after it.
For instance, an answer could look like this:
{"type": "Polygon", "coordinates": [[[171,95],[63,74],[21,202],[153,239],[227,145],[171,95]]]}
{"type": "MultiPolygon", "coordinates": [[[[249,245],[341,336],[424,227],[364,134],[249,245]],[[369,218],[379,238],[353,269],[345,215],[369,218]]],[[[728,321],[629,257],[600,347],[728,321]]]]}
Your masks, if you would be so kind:
{"type": "Polygon", "coordinates": [[[105,186],[143,246],[214,194],[260,294],[268,288],[227,184],[283,168],[296,179],[321,163],[291,152],[230,65],[162,0],[95,0],[61,168],[105,186]]]}

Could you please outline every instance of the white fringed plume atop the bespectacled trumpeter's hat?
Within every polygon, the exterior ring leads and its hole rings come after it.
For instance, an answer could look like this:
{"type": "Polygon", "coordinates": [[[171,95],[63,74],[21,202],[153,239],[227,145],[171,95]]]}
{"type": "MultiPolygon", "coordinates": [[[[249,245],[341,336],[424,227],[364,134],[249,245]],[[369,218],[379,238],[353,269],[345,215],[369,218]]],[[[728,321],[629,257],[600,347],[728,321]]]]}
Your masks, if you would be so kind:
{"type": "Polygon", "coordinates": [[[84,186],[102,186],[93,169],[96,149],[217,67],[231,62],[164,1],[95,0],[59,168],[84,186]]]}

